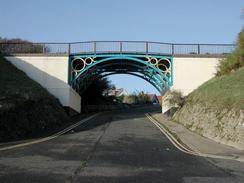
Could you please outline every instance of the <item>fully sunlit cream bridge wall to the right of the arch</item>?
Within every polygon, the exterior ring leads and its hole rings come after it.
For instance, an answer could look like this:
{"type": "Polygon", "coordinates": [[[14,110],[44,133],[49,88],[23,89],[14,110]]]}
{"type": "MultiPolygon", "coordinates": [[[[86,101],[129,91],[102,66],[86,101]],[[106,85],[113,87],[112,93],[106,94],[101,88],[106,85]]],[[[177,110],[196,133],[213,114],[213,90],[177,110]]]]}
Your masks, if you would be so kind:
{"type": "Polygon", "coordinates": [[[173,86],[187,95],[214,77],[219,58],[174,57],[173,86]]]}

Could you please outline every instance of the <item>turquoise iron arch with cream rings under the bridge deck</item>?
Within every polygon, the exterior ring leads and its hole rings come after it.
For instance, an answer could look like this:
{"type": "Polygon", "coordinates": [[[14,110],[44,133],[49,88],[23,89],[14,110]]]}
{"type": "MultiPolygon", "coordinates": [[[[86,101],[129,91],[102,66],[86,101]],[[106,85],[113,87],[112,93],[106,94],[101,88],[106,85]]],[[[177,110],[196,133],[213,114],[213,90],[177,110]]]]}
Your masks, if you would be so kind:
{"type": "Polygon", "coordinates": [[[129,74],[152,84],[160,93],[172,85],[173,58],[166,55],[137,54],[73,54],[69,57],[69,84],[84,89],[100,74],[106,77],[114,74],[129,74]]]}

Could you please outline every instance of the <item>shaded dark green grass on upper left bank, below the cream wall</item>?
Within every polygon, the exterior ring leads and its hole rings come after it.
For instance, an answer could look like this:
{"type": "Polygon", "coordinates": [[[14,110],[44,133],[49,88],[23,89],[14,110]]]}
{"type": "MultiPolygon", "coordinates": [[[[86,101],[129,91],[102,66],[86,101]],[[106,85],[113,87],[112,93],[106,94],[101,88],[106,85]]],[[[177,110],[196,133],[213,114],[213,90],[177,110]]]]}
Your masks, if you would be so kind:
{"type": "Polygon", "coordinates": [[[50,94],[24,72],[0,56],[0,99],[9,96],[38,100],[48,97],[50,94]]]}

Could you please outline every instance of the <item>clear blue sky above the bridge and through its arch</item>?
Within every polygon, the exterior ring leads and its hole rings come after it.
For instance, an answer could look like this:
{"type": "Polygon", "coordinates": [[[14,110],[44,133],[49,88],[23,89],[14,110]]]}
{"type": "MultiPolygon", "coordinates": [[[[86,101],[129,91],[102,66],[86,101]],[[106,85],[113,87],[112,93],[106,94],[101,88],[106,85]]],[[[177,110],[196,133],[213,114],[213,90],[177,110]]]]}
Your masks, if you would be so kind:
{"type": "MultiPolygon", "coordinates": [[[[243,0],[0,0],[0,36],[233,43],[244,25],[243,8],[243,0]]],[[[156,91],[132,76],[111,79],[130,92],[156,91]]]]}

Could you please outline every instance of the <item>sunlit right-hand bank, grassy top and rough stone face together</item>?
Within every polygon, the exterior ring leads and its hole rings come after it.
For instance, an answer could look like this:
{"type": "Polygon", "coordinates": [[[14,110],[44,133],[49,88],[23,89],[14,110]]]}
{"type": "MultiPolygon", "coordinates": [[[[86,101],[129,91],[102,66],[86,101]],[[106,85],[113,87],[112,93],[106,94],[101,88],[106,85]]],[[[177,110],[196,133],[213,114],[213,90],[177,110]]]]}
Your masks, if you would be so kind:
{"type": "Polygon", "coordinates": [[[244,150],[244,67],[204,83],[173,119],[202,136],[244,150]]]}

